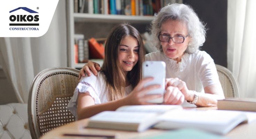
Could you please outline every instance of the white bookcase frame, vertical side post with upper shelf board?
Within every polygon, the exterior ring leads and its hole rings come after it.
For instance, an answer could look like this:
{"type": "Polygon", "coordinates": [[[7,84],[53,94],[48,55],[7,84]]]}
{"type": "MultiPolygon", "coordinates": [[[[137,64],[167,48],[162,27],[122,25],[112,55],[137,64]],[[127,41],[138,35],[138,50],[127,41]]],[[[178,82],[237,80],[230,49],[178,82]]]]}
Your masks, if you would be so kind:
{"type": "MultiPolygon", "coordinates": [[[[74,55],[74,35],[75,23],[134,23],[134,24],[150,24],[153,21],[153,16],[126,16],[126,15],[103,15],[103,14],[86,14],[74,13],[73,0],[67,0],[67,33],[68,33],[68,66],[72,68],[82,68],[85,63],[75,63],[74,55]]],[[[97,28],[95,28],[95,31],[97,28]]],[[[94,59],[93,59],[94,60],[94,59]]],[[[95,61],[102,66],[103,60],[95,61]]]]}

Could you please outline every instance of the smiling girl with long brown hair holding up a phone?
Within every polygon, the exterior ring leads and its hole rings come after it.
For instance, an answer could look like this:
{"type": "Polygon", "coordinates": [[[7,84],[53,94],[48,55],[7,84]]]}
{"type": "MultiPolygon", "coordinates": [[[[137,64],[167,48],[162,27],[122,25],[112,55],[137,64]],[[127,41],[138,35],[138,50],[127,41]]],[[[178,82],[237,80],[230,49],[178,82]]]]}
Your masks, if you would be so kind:
{"type": "MultiPolygon", "coordinates": [[[[83,119],[102,111],[115,111],[124,105],[149,104],[148,100],[161,97],[146,95],[160,85],[143,87],[152,80],[141,80],[144,55],[139,32],[128,24],[116,26],[107,38],[101,71],[97,76],[82,77],[68,104],[70,112],[77,119],[83,119]]],[[[173,87],[166,90],[170,94],[182,94],[173,87]]]]}

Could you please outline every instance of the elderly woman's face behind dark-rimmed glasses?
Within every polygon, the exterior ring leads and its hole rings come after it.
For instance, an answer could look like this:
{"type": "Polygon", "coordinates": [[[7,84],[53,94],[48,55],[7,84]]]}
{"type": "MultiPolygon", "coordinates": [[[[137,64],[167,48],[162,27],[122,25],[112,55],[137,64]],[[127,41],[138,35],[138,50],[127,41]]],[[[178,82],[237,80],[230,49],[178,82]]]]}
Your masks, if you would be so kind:
{"type": "MultiPolygon", "coordinates": [[[[187,26],[185,23],[169,19],[165,21],[161,26],[160,34],[168,35],[170,37],[173,36],[187,36],[187,26]]],[[[190,41],[190,37],[185,38],[183,43],[174,43],[172,39],[168,42],[161,42],[164,54],[176,60],[177,63],[181,61],[181,57],[184,55],[185,50],[187,49],[188,43],[190,41]]]]}

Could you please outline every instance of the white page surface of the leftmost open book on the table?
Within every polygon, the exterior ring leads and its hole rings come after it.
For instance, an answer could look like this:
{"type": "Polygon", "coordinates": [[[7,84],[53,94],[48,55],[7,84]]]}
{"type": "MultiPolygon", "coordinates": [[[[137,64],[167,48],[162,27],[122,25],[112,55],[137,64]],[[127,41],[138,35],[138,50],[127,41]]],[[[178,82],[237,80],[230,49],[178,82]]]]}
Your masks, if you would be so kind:
{"type": "Polygon", "coordinates": [[[155,119],[157,113],[105,111],[90,118],[90,121],[141,123],[155,119]]]}

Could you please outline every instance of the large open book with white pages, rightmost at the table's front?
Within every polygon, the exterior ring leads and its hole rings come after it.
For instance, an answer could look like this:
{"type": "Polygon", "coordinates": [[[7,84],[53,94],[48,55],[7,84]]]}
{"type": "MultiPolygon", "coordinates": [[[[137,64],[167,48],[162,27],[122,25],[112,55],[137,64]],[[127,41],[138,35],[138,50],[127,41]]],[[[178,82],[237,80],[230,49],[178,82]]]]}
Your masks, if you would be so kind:
{"type": "Polygon", "coordinates": [[[162,114],[154,126],[159,129],[194,128],[217,134],[226,134],[242,122],[247,122],[246,113],[239,111],[182,110],[162,114]]]}

